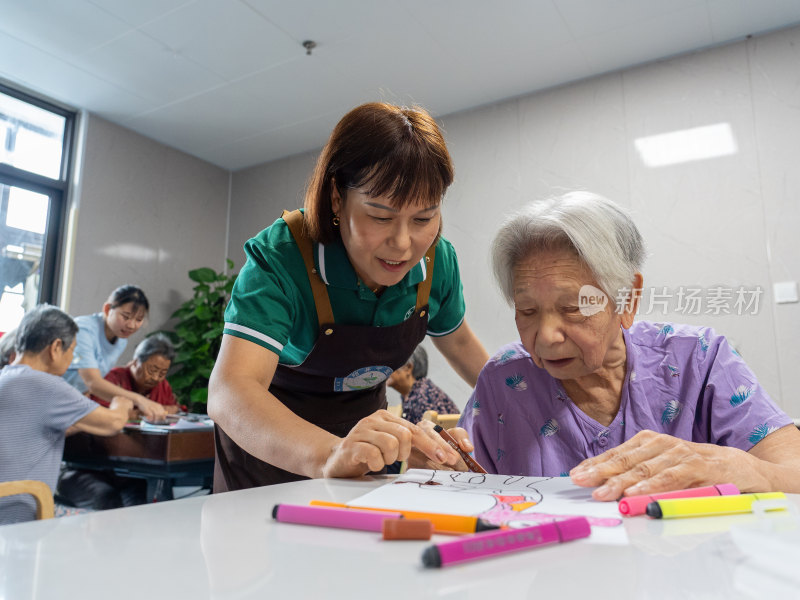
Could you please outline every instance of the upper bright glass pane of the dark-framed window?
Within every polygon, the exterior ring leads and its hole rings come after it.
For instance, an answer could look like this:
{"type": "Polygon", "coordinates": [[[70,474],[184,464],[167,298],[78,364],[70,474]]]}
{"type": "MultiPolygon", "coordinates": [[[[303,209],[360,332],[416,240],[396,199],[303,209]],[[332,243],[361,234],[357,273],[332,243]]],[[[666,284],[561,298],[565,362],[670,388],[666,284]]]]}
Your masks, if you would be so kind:
{"type": "Polygon", "coordinates": [[[58,179],[65,126],[65,117],[0,93],[0,162],[58,179]]]}

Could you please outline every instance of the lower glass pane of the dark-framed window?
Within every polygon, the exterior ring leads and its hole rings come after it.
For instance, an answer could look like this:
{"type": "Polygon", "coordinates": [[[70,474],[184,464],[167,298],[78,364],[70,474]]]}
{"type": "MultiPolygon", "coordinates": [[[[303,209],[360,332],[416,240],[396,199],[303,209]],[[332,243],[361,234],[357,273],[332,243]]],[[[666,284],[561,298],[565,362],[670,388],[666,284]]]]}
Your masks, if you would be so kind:
{"type": "Polygon", "coordinates": [[[0,184],[0,332],[39,301],[50,198],[0,184]]]}

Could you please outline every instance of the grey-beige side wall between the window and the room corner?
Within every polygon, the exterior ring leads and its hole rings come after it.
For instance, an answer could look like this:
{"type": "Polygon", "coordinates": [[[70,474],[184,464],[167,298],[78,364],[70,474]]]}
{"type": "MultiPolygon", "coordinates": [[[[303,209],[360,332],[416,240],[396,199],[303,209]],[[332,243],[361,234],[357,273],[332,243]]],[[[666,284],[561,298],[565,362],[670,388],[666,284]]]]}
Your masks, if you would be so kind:
{"type": "Polygon", "coordinates": [[[129,356],[191,296],[190,269],[223,268],[229,173],[95,116],[82,165],[67,310],[97,312],[115,287],[139,285],[150,319],[129,356]]]}

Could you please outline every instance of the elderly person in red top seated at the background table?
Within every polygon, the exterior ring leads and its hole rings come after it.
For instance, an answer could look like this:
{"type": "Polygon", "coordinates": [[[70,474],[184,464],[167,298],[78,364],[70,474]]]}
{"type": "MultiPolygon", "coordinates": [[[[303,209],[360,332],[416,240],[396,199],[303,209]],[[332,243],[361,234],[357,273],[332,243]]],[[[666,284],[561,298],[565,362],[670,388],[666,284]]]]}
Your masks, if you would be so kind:
{"type": "MultiPolygon", "coordinates": [[[[164,406],[167,414],[175,414],[180,407],[167,381],[167,372],[175,358],[175,348],[162,333],[152,335],[136,346],[133,360],[124,367],[116,367],[106,373],[105,379],[131,392],[141,394],[148,400],[164,406]]],[[[91,397],[106,406],[102,398],[91,397]]]]}

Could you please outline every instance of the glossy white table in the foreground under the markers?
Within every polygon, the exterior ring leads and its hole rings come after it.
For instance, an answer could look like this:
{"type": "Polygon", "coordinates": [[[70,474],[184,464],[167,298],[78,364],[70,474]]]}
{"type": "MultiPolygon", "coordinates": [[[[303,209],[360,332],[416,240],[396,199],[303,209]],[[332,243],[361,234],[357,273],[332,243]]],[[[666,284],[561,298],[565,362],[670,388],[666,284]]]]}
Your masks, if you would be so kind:
{"type": "MultiPolygon", "coordinates": [[[[422,567],[430,542],[385,542],[377,533],[276,523],[271,516],[278,502],[347,502],[388,479],[302,481],[3,526],[0,598],[787,597],[769,593],[786,584],[759,581],[728,532],[752,515],[636,517],[625,520],[627,545],[580,540],[444,569],[422,567]],[[751,595],[743,584],[762,593],[751,595]]],[[[800,556],[797,564],[800,570],[800,556]]]]}

